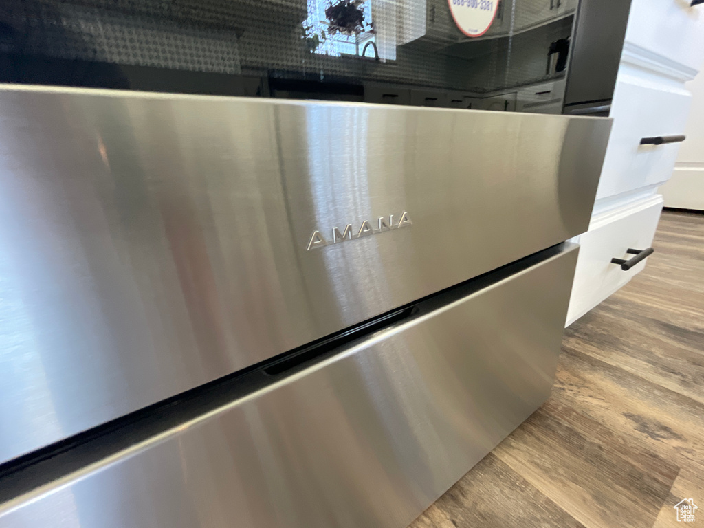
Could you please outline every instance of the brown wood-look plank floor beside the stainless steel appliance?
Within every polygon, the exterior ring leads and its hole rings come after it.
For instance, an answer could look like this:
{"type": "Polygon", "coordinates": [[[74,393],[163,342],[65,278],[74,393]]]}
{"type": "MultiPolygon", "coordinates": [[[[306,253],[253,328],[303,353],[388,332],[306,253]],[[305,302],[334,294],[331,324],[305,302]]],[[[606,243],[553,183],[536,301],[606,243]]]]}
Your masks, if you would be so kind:
{"type": "Polygon", "coordinates": [[[412,528],[704,527],[704,215],[565,333],[553,395],[412,528]],[[699,518],[700,517],[700,518],[699,518]]]}

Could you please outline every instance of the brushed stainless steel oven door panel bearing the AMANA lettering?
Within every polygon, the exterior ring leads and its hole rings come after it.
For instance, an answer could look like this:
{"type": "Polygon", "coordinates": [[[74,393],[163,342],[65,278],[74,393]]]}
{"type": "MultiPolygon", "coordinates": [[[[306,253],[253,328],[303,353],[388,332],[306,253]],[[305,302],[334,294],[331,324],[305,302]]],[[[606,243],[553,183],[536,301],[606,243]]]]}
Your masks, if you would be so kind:
{"type": "Polygon", "coordinates": [[[0,463],[585,231],[610,125],[1,86],[0,463]]]}

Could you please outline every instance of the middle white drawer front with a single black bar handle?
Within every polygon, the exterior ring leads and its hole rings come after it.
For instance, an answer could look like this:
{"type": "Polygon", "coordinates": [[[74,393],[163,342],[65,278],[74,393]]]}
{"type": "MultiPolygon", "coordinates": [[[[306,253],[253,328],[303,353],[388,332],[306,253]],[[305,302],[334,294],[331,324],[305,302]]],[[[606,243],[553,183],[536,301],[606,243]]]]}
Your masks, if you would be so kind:
{"type": "Polygon", "coordinates": [[[684,88],[619,75],[596,199],[655,186],[670,177],[679,143],[641,145],[641,139],[683,134],[691,99],[684,88]]]}

